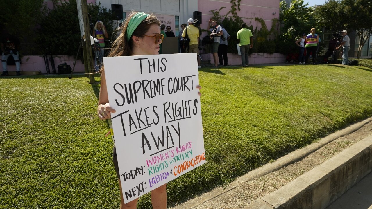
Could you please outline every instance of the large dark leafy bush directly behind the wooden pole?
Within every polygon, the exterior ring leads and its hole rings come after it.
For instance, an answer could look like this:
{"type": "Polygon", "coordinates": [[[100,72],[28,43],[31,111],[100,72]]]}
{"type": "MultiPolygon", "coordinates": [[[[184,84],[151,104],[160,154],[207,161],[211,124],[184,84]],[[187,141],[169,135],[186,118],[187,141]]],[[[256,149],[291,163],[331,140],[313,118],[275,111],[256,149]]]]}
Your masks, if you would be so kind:
{"type": "MultiPolygon", "coordinates": [[[[115,38],[112,37],[114,15],[111,10],[101,7],[100,3],[97,5],[88,4],[88,13],[92,16],[91,29],[97,20],[101,20],[109,33],[109,39],[115,38]]],[[[41,53],[76,56],[81,40],[76,0],[55,4],[54,9],[50,10],[41,22],[38,35],[38,46],[41,53]]],[[[110,42],[110,40],[106,40],[106,47],[110,42]]],[[[80,55],[80,58],[83,56],[80,55]]]]}

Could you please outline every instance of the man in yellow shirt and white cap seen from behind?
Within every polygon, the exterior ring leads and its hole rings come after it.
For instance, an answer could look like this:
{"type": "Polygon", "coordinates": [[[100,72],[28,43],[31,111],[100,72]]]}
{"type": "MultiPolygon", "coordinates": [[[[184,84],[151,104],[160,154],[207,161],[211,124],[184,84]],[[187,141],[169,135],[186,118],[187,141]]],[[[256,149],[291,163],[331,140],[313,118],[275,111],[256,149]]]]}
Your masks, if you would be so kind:
{"type": "Polygon", "coordinates": [[[200,57],[199,57],[199,28],[196,28],[194,26],[194,20],[190,18],[188,21],[189,26],[187,26],[182,33],[182,37],[187,36],[190,39],[190,44],[189,44],[189,50],[185,51],[187,53],[192,53],[196,52],[196,55],[198,57],[198,68],[200,68],[200,57]]]}

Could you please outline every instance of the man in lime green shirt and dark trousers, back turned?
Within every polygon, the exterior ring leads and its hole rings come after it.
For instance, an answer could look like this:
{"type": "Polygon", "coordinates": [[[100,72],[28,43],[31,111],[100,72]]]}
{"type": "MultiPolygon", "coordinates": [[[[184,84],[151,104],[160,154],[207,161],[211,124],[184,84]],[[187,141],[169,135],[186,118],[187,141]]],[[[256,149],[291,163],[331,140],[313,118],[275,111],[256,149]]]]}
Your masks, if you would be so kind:
{"type": "Polygon", "coordinates": [[[241,64],[243,67],[248,67],[248,52],[253,47],[253,35],[250,29],[246,28],[246,23],[241,24],[241,29],[237,33],[241,52],[241,64]]]}

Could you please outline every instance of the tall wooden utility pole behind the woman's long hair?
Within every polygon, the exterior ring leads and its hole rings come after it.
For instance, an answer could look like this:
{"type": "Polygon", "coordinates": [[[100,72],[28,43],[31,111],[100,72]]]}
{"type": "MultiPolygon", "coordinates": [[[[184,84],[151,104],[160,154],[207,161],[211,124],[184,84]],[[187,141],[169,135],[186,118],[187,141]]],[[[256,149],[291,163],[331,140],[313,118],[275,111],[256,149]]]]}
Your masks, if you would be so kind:
{"type": "Polygon", "coordinates": [[[79,17],[80,35],[86,37],[83,44],[84,68],[85,73],[89,73],[89,83],[95,83],[93,73],[92,45],[90,42],[90,26],[88,17],[88,4],[86,0],[76,0],[77,13],[79,17]]]}

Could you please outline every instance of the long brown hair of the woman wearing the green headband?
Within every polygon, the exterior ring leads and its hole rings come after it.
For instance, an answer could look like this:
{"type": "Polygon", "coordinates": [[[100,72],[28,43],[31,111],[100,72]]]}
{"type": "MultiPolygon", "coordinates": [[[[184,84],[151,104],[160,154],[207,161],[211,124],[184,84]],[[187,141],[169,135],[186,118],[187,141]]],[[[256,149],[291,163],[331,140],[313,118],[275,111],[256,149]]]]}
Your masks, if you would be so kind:
{"type": "MultiPolygon", "coordinates": [[[[112,43],[111,52],[108,57],[121,57],[121,56],[130,56],[132,55],[133,51],[133,39],[132,37],[129,41],[126,40],[126,32],[129,20],[137,14],[138,12],[132,11],[128,17],[125,18],[124,23],[117,29],[120,31],[120,35],[118,38],[112,43]]],[[[132,36],[143,37],[145,33],[150,29],[151,25],[157,24],[160,26],[160,21],[157,17],[151,13],[150,16],[147,16],[140,25],[134,30],[132,36]]],[[[100,72],[104,70],[104,67],[101,68],[100,72]]]]}

